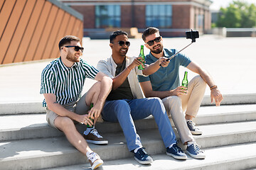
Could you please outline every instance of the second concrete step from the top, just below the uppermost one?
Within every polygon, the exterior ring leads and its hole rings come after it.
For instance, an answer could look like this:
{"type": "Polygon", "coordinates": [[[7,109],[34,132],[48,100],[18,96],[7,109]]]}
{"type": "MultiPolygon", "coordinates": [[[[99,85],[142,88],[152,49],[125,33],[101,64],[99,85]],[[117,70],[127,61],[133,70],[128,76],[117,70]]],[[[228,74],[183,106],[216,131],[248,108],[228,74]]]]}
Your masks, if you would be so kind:
{"type": "MultiPolygon", "coordinates": [[[[202,106],[198,117],[195,119],[197,125],[213,123],[230,123],[246,120],[256,120],[256,104],[235,106],[202,106]]],[[[0,141],[22,140],[36,137],[58,137],[63,133],[50,128],[46,123],[46,114],[23,114],[23,115],[1,115],[0,116],[0,141]]],[[[135,121],[137,130],[156,128],[153,117],[135,121]]],[[[174,124],[173,124],[174,125],[174,124]]],[[[77,125],[78,130],[85,130],[84,125],[77,125]]],[[[110,132],[122,132],[119,123],[97,123],[100,134],[110,132]]]]}

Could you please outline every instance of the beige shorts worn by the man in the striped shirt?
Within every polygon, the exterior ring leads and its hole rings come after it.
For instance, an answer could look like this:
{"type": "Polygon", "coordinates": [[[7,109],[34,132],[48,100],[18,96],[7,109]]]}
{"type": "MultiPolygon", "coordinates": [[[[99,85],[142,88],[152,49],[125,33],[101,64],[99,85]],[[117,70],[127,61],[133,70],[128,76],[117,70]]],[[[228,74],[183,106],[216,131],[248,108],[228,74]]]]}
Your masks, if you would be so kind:
{"type": "MultiPolygon", "coordinates": [[[[79,101],[65,104],[63,105],[63,107],[68,109],[68,111],[72,111],[79,115],[85,115],[90,109],[90,106],[87,106],[85,103],[85,96],[86,96],[86,93],[80,98],[79,101]]],[[[48,108],[46,108],[46,120],[48,122],[48,125],[50,125],[51,127],[56,128],[56,126],[54,125],[54,120],[58,116],[59,115],[57,113],[54,113],[53,111],[50,111],[48,108]]],[[[77,122],[74,121],[74,123],[77,123],[77,122]]]]}

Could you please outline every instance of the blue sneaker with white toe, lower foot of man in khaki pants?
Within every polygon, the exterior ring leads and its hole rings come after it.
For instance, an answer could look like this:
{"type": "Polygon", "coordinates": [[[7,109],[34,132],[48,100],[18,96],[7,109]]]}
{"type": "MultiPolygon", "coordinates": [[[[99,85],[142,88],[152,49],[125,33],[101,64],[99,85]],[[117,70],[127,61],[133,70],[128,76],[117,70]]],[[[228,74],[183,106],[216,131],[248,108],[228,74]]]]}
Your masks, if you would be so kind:
{"type": "Polygon", "coordinates": [[[205,159],[206,154],[199,148],[195,141],[188,142],[188,147],[186,149],[186,153],[188,153],[191,157],[196,159],[205,159]]]}

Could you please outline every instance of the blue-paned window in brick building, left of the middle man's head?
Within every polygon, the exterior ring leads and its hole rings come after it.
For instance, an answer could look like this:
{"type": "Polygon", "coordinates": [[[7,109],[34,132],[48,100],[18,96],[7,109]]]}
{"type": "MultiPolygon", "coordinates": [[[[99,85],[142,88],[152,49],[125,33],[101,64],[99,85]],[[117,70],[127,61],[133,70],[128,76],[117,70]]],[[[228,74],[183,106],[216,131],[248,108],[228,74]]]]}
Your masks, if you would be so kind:
{"type": "Polygon", "coordinates": [[[120,27],[120,6],[95,6],[95,27],[120,27]]]}

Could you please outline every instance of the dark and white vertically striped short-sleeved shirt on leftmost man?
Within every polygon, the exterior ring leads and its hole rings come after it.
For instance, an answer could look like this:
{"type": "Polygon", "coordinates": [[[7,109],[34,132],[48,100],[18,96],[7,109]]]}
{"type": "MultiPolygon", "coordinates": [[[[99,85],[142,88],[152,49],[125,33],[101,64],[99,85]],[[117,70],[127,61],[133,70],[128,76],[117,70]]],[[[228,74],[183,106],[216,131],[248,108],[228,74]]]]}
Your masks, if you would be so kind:
{"type": "MultiPolygon", "coordinates": [[[[99,71],[84,60],[65,67],[61,58],[53,60],[43,69],[40,94],[55,94],[56,101],[65,105],[80,98],[85,78],[95,79],[99,71]]],[[[46,100],[43,100],[46,107],[46,100]]]]}

